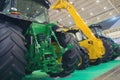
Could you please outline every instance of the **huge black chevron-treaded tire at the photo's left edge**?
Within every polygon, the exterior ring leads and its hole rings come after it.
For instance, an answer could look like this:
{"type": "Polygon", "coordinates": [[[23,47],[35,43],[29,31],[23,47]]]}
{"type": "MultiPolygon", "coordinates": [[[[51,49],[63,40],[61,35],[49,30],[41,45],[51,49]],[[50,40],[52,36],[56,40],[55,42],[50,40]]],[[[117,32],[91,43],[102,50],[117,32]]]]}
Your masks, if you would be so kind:
{"type": "Polygon", "coordinates": [[[24,37],[21,29],[0,23],[0,80],[21,80],[25,76],[24,37]]]}

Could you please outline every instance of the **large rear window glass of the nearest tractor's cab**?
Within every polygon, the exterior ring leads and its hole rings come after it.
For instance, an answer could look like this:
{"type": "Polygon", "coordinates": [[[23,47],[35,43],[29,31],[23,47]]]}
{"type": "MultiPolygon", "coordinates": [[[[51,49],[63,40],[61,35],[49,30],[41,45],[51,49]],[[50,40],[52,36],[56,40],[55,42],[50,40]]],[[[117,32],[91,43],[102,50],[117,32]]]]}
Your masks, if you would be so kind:
{"type": "Polygon", "coordinates": [[[39,23],[49,21],[47,8],[34,0],[11,0],[9,6],[10,12],[20,12],[27,20],[39,23]]]}

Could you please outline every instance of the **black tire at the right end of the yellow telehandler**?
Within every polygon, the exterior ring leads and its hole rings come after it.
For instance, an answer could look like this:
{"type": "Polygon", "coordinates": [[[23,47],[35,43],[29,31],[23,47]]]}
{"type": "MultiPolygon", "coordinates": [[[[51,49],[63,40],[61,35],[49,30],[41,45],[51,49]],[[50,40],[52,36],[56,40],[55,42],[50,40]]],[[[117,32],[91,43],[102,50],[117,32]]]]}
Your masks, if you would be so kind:
{"type": "Polygon", "coordinates": [[[106,38],[102,38],[102,37],[100,37],[100,38],[101,38],[103,45],[105,47],[105,54],[103,55],[102,62],[108,62],[113,57],[113,49],[112,49],[112,46],[109,43],[109,41],[106,40],[106,38]]]}

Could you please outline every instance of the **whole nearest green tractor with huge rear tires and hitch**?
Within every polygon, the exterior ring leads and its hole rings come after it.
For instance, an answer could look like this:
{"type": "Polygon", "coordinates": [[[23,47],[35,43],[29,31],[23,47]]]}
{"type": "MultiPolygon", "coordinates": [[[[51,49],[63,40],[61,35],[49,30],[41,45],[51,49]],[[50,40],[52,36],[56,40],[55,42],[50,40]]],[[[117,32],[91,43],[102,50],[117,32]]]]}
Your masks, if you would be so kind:
{"type": "Polygon", "coordinates": [[[48,0],[0,1],[0,80],[21,80],[41,70],[64,77],[80,66],[80,50],[70,34],[49,23],[48,0]]]}

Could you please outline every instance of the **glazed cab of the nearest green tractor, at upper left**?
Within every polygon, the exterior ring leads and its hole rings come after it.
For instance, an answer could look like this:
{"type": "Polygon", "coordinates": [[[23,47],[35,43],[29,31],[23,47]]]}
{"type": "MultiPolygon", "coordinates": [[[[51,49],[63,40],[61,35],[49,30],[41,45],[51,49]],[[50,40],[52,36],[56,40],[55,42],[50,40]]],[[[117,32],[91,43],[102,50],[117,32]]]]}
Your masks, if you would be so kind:
{"type": "Polygon", "coordinates": [[[49,21],[50,2],[48,0],[2,0],[0,5],[2,14],[13,18],[39,23],[49,21]]]}

